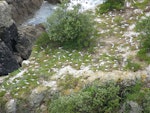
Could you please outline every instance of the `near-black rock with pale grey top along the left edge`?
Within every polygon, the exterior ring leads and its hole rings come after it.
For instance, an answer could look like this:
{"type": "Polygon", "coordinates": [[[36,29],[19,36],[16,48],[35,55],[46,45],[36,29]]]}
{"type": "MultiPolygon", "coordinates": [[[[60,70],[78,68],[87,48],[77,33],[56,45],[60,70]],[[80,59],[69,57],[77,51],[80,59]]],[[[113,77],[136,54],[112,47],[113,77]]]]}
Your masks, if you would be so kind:
{"type": "Polygon", "coordinates": [[[9,5],[0,1],[0,75],[8,74],[19,67],[13,53],[16,51],[18,33],[10,11],[9,5]]]}

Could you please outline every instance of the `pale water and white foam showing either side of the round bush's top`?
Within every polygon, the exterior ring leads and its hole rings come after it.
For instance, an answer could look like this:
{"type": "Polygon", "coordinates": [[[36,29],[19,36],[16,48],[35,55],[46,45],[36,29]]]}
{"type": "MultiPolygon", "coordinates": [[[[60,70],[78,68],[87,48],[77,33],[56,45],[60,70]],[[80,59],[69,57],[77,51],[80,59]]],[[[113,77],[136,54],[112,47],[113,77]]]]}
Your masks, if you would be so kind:
{"type": "MultiPolygon", "coordinates": [[[[104,0],[70,0],[69,8],[71,9],[73,5],[81,4],[81,10],[94,9],[97,5],[102,4],[104,0]]],[[[49,4],[44,1],[41,8],[35,13],[33,18],[27,20],[24,25],[37,25],[43,22],[46,22],[48,16],[52,14],[56,5],[49,4]]]]}

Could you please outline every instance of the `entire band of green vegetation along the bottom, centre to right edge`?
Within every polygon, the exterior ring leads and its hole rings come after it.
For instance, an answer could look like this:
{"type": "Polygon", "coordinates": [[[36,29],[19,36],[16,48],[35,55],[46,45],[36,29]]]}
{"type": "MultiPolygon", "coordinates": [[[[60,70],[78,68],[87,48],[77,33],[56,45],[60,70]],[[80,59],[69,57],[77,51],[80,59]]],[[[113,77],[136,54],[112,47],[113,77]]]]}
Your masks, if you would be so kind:
{"type": "MultiPolygon", "coordinates": [[[[150,89],[143,87],[141,81],[126,83],[94,83],[87,85],[78,93],[58,96],[51,100],[50,113],[116,113],[129,101],[136,102],[144,113],[150,112],[150,89]],[[130,84],[130,85],[129,85],[130,84]],[[146,95],[146,96],[145,96],[146,95]]],[[[131,108],[125,108],[128,113],[131,108]]]]}

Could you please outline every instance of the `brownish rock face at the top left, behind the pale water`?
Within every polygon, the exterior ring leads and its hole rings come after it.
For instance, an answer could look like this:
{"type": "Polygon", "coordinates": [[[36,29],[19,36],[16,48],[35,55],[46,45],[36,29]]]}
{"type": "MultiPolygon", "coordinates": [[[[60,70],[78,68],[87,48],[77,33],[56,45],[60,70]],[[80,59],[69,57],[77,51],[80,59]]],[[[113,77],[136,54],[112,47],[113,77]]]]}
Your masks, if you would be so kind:
{"type": "Polygon", "coordinates": [[[41,6],[43,0],[6,0],[12,9],[12,18],[20,24],[32,16],[41,6]]]}

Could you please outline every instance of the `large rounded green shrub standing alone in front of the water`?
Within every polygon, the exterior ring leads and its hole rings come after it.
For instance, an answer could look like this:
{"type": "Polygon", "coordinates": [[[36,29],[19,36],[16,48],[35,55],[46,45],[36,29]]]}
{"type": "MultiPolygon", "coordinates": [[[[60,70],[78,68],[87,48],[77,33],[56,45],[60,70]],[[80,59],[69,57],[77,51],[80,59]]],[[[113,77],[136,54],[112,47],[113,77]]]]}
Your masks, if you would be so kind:
{"type": "Polygon", "coordinates": [[[89,13],[80,12],[80,5],[68,10],[62,3],[45,23],[48,42],[59,42],[62,46],[75,48],[88,47],[96,28],[93,17],[89,13]]]}

